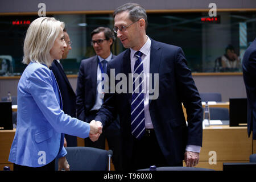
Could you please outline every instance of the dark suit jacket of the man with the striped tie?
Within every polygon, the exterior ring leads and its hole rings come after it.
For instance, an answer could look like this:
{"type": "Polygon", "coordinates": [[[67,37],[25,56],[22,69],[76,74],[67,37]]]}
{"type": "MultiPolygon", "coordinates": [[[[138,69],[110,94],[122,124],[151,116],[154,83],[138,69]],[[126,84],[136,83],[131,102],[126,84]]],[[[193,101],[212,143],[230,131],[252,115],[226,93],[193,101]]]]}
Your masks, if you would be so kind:
{"type": "MultiPolygon", "coordinates": [[[[108,75],[112,68],[115,69],[115,75],[125,73],[128,78],[128,74],[131,73],[130,49],[109,62],[108,75]]],[[[177,164],[184,159],[187,144],[202,145],[201,98],[180,47],[151,39],[150,73],[159,73],[159,97],[149,101],[156,138],[167,162],[170,165],[177,164]],[[182,102],[187,109],[188,127],[185,123],[182,102]]],[[[115,84],[117,82],[115,81],[115,84]]],[[[129,166],[133,151],[130,113],[131,93],[108,93],[105,94],[104,104],[96,116],[96,121],[101,121],[105,125],[112,121],[115,114],[119,114],[124,169],[129,166]]]]}

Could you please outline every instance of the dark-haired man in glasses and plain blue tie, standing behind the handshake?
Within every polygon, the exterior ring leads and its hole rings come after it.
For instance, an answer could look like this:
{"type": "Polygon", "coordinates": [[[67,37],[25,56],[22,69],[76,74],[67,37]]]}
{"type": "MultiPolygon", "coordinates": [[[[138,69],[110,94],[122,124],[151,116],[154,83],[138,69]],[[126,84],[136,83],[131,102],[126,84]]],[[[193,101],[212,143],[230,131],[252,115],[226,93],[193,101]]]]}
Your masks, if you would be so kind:
{"type": "MultiPolygon", "coordinates": [[[[111,47],[115,35],[110,28],[98,27],[91,33],[92,46],[96,56],[81,61],[79,76],[77,78],[77,118],[85,122],[94,119],[100,109],[104,92],[98,90],[102,82],[102,73],[106,73],[108,61],[115,56],[111,47]]],[[[121,170],[121,140],[119,120],[115,121],[103,131],[97,142],[85,139],[85,146],[105,149],[105,139],[108,140],[109,148],[113,150],[113,164],[115,170],[121,170]]]]}

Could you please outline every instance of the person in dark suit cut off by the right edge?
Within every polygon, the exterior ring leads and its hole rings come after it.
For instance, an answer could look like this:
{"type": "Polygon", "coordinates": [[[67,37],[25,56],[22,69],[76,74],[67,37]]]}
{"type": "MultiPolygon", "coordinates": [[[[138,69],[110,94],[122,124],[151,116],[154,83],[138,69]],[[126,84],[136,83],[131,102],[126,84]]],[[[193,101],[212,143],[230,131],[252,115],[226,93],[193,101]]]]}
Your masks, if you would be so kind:
{"type": "Polygon", "coordinates": [[[246,49],[242,61],[243,81],[247,94],[247,130],[256,140],[256,39],[246,49]]]}

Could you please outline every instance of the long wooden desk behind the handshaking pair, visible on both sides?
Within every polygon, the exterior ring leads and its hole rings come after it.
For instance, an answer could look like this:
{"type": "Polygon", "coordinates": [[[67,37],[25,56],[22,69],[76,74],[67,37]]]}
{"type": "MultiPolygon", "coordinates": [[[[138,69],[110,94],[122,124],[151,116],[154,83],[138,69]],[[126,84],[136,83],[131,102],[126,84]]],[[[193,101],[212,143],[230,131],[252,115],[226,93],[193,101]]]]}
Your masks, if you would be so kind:
{"type": "MultiPolygon", "coordinates": [[[[0,130],[0,170],[3,166],[13,164],[8,162],[14,130],[0,130]]],[[[84,140],[77,138],[79,146],[84,146],[84,140]]],[[[106,145],[108,150],[108,145],[106,145]]],[[[247,127],[229,127],[228,125],[214,125],[203,130],[203,147],[197,167],[222,170],[224,162],[249,162],[249,156],[256,153],[256,140],[247,137],[247,127]],[[213,156],[216,154],[216,164],[213,156]],[[210,164],[209,163],[213,163],[210,164]]],[[[112,164],[113,169],[113,164],[112,164]]]]}

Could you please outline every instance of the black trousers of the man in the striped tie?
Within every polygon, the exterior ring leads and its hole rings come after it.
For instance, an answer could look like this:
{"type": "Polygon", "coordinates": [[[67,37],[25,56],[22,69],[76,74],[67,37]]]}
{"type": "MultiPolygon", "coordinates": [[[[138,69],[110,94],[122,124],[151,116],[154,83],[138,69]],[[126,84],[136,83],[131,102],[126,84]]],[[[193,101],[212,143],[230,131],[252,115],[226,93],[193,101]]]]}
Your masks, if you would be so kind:
{"type": "MultiPolygon", "coordinates": [[[[134,137],[133,156],[130,169],[147,169],[150,166],[167,167],[167,160],[159,147],[154,129],[146,130],[141,140],[134,137]]],[[[183,162],[175,166],[183,166],[183,162]]]]}

